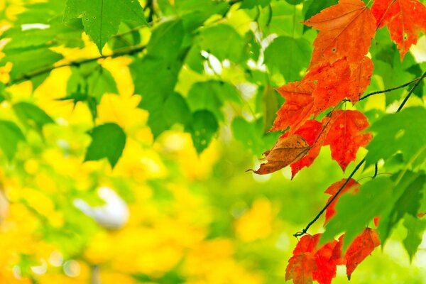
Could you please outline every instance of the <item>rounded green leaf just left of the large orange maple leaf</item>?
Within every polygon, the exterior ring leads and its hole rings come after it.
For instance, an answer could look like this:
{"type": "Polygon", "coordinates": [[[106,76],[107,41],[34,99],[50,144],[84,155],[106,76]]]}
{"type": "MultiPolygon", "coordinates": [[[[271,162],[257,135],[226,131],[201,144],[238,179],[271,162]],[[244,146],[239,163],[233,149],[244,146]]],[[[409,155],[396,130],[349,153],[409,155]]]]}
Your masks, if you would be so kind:
{"type": "Polygon", "coordinates": [[[300,71],[309,65],[312,46],[304,38],[280,36],[265,50],[265,64],[271,72],[280,72],[287,82],[300,80],[300,71]]]}

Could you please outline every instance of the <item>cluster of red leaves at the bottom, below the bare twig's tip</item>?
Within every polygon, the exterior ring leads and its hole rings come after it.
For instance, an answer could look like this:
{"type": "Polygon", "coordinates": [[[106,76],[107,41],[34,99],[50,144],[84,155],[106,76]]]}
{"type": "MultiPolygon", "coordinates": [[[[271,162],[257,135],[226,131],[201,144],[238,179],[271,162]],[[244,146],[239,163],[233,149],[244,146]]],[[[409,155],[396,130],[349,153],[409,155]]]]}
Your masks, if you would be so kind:
{"type": "Polygon", "coordinates": [[[288,261],[285,280],[295,284],[332,283],[336,277],[337,266],[346,266],[346,275],[351,278],[356,266],[380,244],[376,230],[366,228],[352,241],[346,253],[342,253],[344,235],[339,240],[330,241],[318,248],[321,234],[302,236],[288,261]]]}

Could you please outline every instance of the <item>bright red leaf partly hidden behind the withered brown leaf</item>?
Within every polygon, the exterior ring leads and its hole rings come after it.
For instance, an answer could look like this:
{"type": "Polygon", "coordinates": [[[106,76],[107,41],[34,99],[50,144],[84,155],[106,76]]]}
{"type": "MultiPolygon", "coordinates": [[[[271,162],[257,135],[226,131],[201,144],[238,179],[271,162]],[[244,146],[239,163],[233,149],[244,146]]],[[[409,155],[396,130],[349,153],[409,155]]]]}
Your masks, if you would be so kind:
{"type": "Polygon", "coordinates": [[[314,163],[314,160],[317,158],[318,154],[320,154],[322,143],[318,141],[318,136],[322,133],[322,124],[320,121],[316,121],[315,119],[310,119],[305,122],[300,129],[295,131],[295,134],[298,134],[305,138],[305,141],[311,146],[309,153],[305,155],[303,158],[298,160],[295,163],[292,163],[291,166],[291,178],[294,178],[295,175],[302,170],[302,168],[309,167],[314,163]]]}

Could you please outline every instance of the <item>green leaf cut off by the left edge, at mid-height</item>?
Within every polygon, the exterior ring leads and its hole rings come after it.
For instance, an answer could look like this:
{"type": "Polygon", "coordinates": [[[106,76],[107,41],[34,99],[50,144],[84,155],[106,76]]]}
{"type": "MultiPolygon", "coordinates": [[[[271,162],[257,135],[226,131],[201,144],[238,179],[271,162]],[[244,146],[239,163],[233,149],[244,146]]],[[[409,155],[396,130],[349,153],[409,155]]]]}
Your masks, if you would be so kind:
{"type": "Polygon", "coordinates": [[[25,141],[25,137],[21,129],[11,121],[0,120],[0,148],[6,158],[10,161],[13,159],[18,148],[19,141],[25,141]]]}

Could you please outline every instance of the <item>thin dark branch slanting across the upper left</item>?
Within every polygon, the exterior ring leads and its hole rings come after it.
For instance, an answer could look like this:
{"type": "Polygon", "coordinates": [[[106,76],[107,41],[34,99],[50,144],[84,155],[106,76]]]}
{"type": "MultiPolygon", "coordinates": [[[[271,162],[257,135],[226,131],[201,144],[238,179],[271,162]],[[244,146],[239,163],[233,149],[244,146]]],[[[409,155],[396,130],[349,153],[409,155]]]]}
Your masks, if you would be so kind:
{"type": "Polygon", "coordinates": [[[80,66],[83,64],[87,64],[89,62],[93,62],[93,61],[97,61],[99,59],[104,59],[104,58],[116,58],[119,56],[123,56],[123,55],[133,55],[135,53],[140,53],[142,50],[144,50],[146,48],[145,45],[135,45],[135,46],[131,46],[130,48],[124,48],[122,50],[118,50],[115,53],[111,53],[110,55],[101,55],[98,56],[97,58],[87,58],[87,59],[83,59],[83,60],[76,60],[76,61],[71,61],[71,62],[67,62],[67,63],[63,63],[61,65],[53,65],[53,66],[47,66],[44,67],[40,70],[35,70],[34,72],[30,72],[28,74],[24,74],[21,77],[18,77],[14,80],[9,81],[6,84],[6,87],[9,87],[13,84],[16,84],[18,82],[22,82],[22,81],[26,81],[26,80],[31,80],[31,78],[33,77],[37,77],[39,75],[43,75],[45,73],[48,73],[52,70],[61,68],[61,67],[67,67],[67,66],[80,66]]]}

